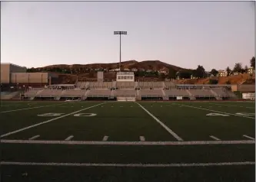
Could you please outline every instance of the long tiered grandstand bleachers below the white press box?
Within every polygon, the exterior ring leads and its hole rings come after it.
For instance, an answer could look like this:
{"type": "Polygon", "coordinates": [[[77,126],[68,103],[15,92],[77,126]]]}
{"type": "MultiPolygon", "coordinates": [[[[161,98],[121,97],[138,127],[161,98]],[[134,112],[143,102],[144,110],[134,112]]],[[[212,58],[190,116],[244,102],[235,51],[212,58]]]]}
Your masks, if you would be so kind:
{"type": "MultiPolygon", "coordinates": [[[[50,87],[49,87],[50,88],[50,87]]],[[[26,98],[117,98],[132,97],[168,99],[229,99],[236,98],[224,86],[175,85],[165,82],[77,82],[75,89],[29,89],[26,98]],[[139,90],[136,90],[138,89],[139,90]],[[178,88],[178,89],[177,89],[178,88]]]]}

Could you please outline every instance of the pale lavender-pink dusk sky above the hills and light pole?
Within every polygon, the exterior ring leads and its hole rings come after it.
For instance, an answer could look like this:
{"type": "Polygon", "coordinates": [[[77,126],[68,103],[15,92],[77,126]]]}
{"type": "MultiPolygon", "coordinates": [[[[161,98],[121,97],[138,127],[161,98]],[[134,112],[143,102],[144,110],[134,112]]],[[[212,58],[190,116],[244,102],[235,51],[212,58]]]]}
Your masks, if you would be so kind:
{"type": "Polygon", "coordinates": [[[250,66],[255,2],[1,2],[1,62],[161,60],[205,70],[250,66]]]}

